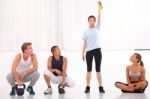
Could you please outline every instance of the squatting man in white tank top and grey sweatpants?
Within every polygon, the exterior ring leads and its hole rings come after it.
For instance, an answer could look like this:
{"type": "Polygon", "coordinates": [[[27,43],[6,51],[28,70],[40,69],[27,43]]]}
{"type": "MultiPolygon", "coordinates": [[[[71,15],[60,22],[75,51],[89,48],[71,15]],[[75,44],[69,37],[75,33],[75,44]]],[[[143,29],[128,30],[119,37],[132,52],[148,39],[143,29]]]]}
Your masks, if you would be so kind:
{"type": "Polygon", "coordinates": [[[36,55],[33,53],[32,43],[25,42],[21,46],[22,53],[14,58],[12,71],[7,75],[7,81],[12,86],[10,95],[16,94],[16,85],[22,86],[25,82],[30,82],[27,91],[34,95],[33,86],[38,81],[40,74],[36,55]]]}

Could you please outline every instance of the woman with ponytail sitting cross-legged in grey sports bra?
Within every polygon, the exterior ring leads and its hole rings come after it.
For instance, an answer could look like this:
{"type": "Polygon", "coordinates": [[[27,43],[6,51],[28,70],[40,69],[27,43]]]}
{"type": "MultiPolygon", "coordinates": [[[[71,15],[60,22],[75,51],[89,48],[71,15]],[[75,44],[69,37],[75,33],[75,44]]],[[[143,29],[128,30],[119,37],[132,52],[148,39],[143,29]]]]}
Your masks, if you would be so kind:
{"type": "Polygon", "coordinates": [[[138,53],[134,53],[130,61],[132,65],[126,68],[127,83],[116,82],[115,86],[121,89],[122,92],[128,93],[143,93],[148,85],[145,78],[145,68],[142,62],[142,57],[138,53]]]}

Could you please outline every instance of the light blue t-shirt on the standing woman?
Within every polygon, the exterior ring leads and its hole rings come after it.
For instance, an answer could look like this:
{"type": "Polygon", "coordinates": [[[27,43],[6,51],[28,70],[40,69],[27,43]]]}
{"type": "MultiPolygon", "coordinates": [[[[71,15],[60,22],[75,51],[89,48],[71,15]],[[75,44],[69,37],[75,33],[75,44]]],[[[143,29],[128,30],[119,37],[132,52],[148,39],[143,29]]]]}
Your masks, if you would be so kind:
{"type": "Polygon", "coordinates": [[[86,29],[82,35],[82,39],[87,40],[86,51],[101,48],[100,25],[97,24],[94,28],[86,29]]]}

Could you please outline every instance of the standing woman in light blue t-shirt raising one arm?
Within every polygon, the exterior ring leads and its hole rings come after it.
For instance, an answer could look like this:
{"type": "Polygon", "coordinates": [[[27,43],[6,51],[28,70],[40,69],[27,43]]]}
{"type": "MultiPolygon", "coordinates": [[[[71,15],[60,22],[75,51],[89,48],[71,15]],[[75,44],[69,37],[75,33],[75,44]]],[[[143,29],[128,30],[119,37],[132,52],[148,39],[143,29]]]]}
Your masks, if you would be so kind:
{"type": "Polygon", "coordinates": [[[86,63],[87,63],[87,75],[86,75],[86,89],[85,93],[90,92],[90,81],[91,81],[91,71],[92,71],[92,61],[93,57],[95,59],[96,64],[96,76],[99,83],[99,92],[104,93],[104,89],[102,87],[102,77],[101,77],[101,60],[102,60],[102,53],[101,53],[101,38],[100,38],[100,27],[101,27],[101,9],[102,4],[98,2],[98,19],[97,25],[95,16],[91,15],[88,17],[89,28],[84,31],[82,39],[84,40],[83,50],[82,50],[82,59],[85,61],[86,56],[86,63]],[[86,55],[85,55],[86,51],[86,55]]]}

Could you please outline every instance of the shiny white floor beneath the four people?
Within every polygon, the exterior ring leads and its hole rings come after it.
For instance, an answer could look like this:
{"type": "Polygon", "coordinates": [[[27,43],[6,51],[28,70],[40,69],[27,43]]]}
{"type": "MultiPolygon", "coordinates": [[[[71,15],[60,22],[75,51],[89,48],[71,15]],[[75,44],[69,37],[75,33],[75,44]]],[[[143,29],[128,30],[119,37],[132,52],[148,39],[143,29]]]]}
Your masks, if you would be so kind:
{"type": "MultiPolygon", "coordinates": [[[[114,87],[115,81],[126,82],[125,68],[131,64],[129,61],[130,55],[134,53],[133,50],[117,50],[117,51],[103,51],[103,61],[101,72],[103,76],[103,85],[106,90],[105,94],[98,92],[98,83],[95,77],[95,68],[93,64],[93,73],[91,80],[91,92],[85,94],[85,74],[86,64],[81,60],[81,52],[62,52],[68,58],[67,74],[75,81],[76,86],[73,88],[66,88],[66,94],[58,94],[57,85],[52,84],[53,94],[44,95],[43,91],[46,85],[43,79],[43,72],[46,69],[47,58],[50,52],[36,51],[39,63],[39,72],[41,77],[34,86],[36,95],[30,96],[27,92],[24,96],[9,96],[10,85],[6,81],[6,75],[11,70],[11,63],[15,52],[0,52],[0,97],[4,99],[150,99],[150,87],[146,89],[144,94],[127,94],[122,93],[119,89],[114,87]]],[[[137,51],[136,51],[137,52],[137,51]]],[[[143,56],[143,61],[146,68],[146,78],[150,81],[150,51],[138,51],[143,56]]],[[[28,83],[26,83],[28,85],[28,83]]]]}

